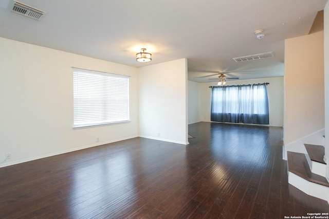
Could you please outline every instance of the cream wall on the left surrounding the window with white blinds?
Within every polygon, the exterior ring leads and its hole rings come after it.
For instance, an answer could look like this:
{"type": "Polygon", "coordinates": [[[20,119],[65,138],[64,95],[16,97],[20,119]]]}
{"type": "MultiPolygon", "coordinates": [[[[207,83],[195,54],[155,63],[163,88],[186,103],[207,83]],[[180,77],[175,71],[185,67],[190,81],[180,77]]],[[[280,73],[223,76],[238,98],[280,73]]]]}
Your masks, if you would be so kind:
{"type": "Polygon", "coordinates": [[[138,69],[0,38],[0,167],[138,136],[138,69]],[[130,77],[130,123],[72,129],[72,66],[130,77]],[[97,137],[99,142],[96,142],[97,137]]]}

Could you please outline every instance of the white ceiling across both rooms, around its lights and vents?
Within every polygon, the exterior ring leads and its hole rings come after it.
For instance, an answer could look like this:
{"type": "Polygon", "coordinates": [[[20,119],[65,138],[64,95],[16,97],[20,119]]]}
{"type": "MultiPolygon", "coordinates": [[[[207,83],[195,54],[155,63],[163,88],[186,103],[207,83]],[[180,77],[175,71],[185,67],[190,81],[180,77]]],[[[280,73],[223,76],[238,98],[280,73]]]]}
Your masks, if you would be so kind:
{"type": "Polygon", "coordinates": [[[327,0],[20,2],[47,13],[35,22],[0,0],[0,37],[136,67],[187,58],[189,80],[209,82],[221,71],[240,79],[283,76],[284,40],[308,34],[327,0]],[[141,48],[152,62],[136,62],[141,48]],[[232,60],[270,51],[274,57],[232,60]]]}

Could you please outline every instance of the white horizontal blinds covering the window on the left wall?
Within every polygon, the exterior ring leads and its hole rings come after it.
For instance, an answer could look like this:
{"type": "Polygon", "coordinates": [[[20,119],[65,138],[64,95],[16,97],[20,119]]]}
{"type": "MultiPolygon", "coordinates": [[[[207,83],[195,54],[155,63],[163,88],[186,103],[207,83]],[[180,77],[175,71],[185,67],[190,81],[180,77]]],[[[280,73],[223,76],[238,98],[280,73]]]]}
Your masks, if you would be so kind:
{"type": "Polygon", "coordinates": [[[129,121],[129,78],[74,68],[74,127],[129,121]]]}

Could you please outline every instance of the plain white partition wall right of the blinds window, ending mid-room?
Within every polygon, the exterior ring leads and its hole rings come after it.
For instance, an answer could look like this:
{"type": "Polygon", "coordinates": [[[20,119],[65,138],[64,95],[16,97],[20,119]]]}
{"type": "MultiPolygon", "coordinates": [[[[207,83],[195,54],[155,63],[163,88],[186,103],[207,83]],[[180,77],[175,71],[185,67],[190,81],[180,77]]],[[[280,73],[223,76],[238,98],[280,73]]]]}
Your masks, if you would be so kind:
{"type": "Polygon", "coordinates": [[[188,144],[187,60],[139,68],[140,136],[188,144]]]}

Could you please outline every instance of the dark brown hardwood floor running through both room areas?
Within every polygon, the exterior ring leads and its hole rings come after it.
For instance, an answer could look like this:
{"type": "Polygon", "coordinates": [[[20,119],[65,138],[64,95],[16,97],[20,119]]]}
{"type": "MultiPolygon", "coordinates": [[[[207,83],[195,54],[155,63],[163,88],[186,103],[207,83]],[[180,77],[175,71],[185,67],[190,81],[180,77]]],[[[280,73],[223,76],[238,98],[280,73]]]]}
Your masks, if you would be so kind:
{"type": "Polygon", "coordinates": [[[0,168],[0,218],[284,218],[329,212],[288,184],[282,129],[199,122],[0,168]]]}

